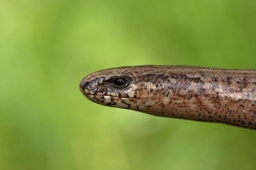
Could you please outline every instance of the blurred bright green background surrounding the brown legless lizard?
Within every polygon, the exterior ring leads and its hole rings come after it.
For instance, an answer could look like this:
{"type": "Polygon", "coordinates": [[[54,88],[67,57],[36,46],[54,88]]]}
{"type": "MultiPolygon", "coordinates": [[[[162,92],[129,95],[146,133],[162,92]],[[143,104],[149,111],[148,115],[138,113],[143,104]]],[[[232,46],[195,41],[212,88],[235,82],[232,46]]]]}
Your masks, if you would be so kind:
{"type": "Polygon", "coordinates": [[[256,69],[256,1],[0,0],[0,169],[255,169],[256,131],[88,101],[117,66],[256,69]]]}

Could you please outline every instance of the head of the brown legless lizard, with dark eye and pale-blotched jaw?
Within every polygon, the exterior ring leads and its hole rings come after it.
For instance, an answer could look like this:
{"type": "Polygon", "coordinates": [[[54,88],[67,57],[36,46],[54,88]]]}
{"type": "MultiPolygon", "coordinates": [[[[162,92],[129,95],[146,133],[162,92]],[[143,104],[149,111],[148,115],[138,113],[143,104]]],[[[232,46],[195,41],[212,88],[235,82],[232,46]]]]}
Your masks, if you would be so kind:
{"type": "Polygon", "coordinates": [[[95,103],[129,108],[129,103],[137,97],[136,73],[134,67],[105,69],[83,78],[79,87],[83,95],[95,103]]]}

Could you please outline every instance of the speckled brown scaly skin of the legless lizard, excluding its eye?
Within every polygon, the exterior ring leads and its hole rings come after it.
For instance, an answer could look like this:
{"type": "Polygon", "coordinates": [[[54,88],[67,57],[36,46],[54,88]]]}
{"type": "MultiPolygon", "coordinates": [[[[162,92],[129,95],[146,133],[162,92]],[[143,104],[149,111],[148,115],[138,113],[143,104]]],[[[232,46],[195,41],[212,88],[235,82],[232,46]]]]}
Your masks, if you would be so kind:
{"type": "Polygon", "coordinates": [[[256,129],[256,70],[131,66],[89,74],[80,83],[95,103],[160,117],[256,129]],[[113,79],[129,85],[116,88],[113,79]]]}

